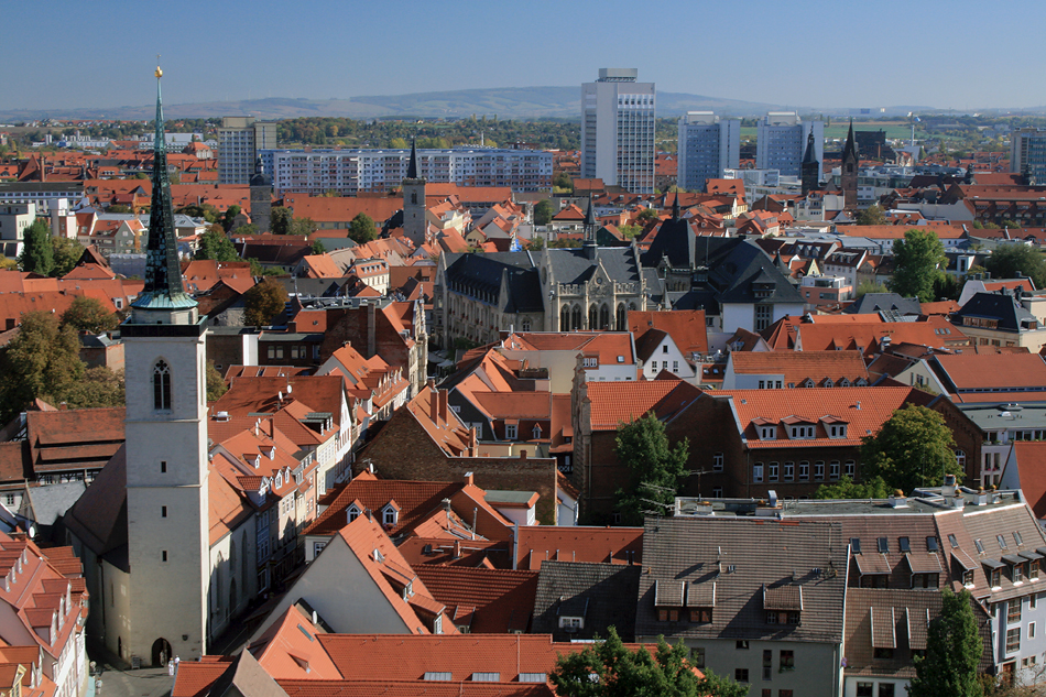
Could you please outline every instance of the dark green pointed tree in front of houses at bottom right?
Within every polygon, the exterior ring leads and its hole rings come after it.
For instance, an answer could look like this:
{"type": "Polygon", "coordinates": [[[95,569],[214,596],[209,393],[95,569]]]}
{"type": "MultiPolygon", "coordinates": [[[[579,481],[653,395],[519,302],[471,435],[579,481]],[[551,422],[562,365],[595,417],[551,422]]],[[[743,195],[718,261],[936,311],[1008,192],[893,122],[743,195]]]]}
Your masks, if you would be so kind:
{"type": "Polygon", "coordinates": [[[915,656],[915,677],[908,687],[911,697],[981,697],[977,666],[984,644],[977,631],[977,618],[970,605],[970,591],[958,595],[941,589],[940,614],[929,623],[926,655],[915,656]]]}

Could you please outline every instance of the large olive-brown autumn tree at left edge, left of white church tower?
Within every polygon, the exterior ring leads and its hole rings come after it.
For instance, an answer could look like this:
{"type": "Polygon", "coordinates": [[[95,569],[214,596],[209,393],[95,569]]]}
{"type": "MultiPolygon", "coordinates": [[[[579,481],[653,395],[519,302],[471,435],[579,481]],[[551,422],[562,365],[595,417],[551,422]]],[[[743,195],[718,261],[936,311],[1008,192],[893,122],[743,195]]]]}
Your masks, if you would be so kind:
{"type": "Polygon", "coordinates": [[[72,325],[45,311],[22,315],[19,331],[0,351],[0,422],[8,423],[36,397],[57,401],[84,374],[72,325]]]}

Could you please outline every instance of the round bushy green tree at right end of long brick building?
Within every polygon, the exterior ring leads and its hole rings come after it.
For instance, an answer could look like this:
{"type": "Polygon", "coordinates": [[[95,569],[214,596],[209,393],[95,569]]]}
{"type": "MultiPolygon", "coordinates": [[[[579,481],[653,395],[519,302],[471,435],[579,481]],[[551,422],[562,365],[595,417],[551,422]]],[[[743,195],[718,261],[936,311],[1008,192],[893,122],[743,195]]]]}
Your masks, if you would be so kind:
{"type": "Polygon", "coordinates": [[[908,404],[893,413],[880,432],[862,439],[863,477],[882,477],[891,489],[911,492],[944,483],[945,475],[961,481],[955,440],[944,417],[931,409],[908,404]]]}

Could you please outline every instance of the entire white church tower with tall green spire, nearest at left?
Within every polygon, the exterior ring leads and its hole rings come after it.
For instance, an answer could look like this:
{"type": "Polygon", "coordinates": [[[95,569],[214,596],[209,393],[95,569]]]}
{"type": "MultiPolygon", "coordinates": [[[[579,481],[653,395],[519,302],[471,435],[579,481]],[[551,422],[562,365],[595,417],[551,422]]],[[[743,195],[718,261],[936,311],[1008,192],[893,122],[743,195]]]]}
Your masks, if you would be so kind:
{"type": "Polygon", "coordinates": [[[144,664],[207,652],[210,576],[205,338],[182,287],[156,68],[156,143],[145,287],[121,325],[127,375],[130,627],[144,664]]]}

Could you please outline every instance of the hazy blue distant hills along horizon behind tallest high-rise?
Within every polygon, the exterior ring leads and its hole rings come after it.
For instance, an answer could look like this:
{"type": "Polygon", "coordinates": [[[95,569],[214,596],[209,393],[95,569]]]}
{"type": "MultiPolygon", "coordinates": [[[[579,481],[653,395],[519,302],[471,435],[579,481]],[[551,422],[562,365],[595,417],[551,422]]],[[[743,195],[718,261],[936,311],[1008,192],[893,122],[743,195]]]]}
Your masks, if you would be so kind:
{"type": "MultiPolygon", "coordinates": [[[[682,92],[657,92],[657,116],[675,117],[685,111],[716,111],[723,116],[760,116],[778,105],[720,99],[682,92]]],[[[461,89],[414,95],[353,97],[351,99],[248,99],[200,104],[164,105],[168,119],[207,118],[249,113],[260,119],[297,117],[375,117],[455,118],[497,115],[502,119],[559,118],[579,119],[580,86],[577,87],[504,87],[497,89],[461,89]]],[[[127,119],[153,118],[155,105],[109,107],[100,109],[17,109],[0,111],[0,121],[37,119],[127,119]]]]}

